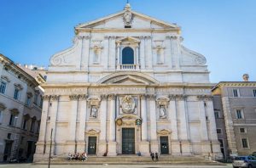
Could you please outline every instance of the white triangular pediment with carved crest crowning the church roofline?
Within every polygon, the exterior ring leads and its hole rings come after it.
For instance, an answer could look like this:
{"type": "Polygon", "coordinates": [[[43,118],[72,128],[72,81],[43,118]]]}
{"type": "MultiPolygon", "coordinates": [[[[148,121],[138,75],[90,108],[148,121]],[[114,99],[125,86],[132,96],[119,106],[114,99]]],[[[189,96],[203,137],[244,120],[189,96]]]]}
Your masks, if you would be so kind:
{"type": "MultiPolygon", "coordinates": [[[[128,4],[129,5],[129,4],[128,4]]],[[[130,6],[116,13],[110,14],[98,20],[90,21],[75,27],[77,31],[83,29],[174,29],[179,26],[154,19],[148,15],[137,13],[131,10],[130,6]]]]}

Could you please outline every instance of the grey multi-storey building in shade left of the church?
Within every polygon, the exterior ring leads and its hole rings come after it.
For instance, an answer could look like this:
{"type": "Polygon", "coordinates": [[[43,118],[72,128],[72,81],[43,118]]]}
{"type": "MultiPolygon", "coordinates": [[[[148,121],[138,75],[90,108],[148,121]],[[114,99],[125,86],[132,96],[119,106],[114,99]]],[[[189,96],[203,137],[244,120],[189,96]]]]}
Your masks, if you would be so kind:
{"type": "Polygon", "coordinates": [[[32,160],[41,120],[44,77],[0,54],[0,161],[32,160]]]}

